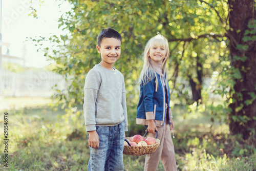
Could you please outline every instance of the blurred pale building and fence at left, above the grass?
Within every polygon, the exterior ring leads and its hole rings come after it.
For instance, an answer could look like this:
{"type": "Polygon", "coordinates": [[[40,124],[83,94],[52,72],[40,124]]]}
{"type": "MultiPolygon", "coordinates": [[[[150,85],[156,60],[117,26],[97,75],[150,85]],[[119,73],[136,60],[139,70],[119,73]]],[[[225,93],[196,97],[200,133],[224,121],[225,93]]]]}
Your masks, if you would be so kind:
{"type": "MultiPolygon", "coordinates": [[[[50,97],[54,89],[65,89],[65,78],[62,75],[43,68],[26,68],[25,55],[12,56],[9,53],[10,44],[0,40],[0,96],[2,97],[50,97]],[[4,49],[5,54],[2,50],[4,49]],[[21,71],[12,72],[4,68],[19,66],[21,71]]],[[[26,52],[26,48],[24,47],[26,52]]]]}

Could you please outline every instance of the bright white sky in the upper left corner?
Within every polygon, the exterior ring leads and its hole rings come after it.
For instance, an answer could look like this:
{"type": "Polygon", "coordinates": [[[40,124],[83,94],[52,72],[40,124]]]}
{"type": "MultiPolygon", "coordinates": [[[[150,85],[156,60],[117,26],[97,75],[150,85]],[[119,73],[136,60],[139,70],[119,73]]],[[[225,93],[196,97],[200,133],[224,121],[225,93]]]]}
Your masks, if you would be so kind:
{"type": "MultiPolygon", "coordinates": [[[[1,0],[0,0],[1,1],[1,0]]],[[[42,0],[41,0],[42,1],[42,0]]],[[[68,2],[43,0],[44,4],[39,8],[39,0],[33,0],[32,6],[37,11],[38,18],[28,16],[31,12],[30,0],[2,0],[2,40],[10,44],[10,55],[22,57],[25,53],[26,67],[42,68],[51,62],[46,60],[44,52],[37,52],[37,47],[27,37],[50,37],[60,35],[58,18],[62,13],[71,9],[68,2]],[[26,52],[23,50],[26,47],[26,52]]],[[[3,54],[6,49],[3,48],[3,54]]]]}

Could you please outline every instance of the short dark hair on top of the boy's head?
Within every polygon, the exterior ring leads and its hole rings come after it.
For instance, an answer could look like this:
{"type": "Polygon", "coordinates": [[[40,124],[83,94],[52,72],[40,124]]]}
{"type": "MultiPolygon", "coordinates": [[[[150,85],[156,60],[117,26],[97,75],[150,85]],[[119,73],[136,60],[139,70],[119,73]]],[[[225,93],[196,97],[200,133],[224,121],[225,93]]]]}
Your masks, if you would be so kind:
{"type": "Polygon", "coordinates": [[[102,29],[98,35],[98,40],[97,40],[98,46],[100,46],[101,41],[105,37],[116,38],[116,39],[120,40],[122,43],[122,36],[116,30],[114,30],[112,28],[106,28],[106,29],[102,29]]]}

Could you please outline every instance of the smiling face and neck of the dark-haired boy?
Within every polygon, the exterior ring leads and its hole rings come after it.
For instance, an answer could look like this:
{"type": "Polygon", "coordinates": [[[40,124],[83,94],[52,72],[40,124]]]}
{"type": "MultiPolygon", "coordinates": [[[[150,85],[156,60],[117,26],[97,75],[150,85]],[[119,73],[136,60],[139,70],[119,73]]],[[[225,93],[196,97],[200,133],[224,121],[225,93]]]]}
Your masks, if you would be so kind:
{"type": "Polygon", "coordinates": [[[121,41],[116,38],[105,37],[101,40],[100,46],[97,46],[101,54],[100,65],[106,69],[113,69],[114,63],[121,54],[121,41]]]}

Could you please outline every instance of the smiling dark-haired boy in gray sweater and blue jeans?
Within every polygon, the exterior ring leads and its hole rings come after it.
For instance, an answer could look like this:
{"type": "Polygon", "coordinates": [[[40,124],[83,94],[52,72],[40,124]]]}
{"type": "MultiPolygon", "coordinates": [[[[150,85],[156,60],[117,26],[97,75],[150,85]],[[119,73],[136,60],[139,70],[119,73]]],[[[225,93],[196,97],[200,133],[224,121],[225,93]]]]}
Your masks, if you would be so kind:
{"type": "Polygon", "coordinates": [[[121,54],[121,35],[106,28],[97,43],[101,62],[88,72],[83,89],[91,153],[88,170],[124,170],[124,132],[128,131],[125,86],[123,75],[113,67],[121,54]]]}

